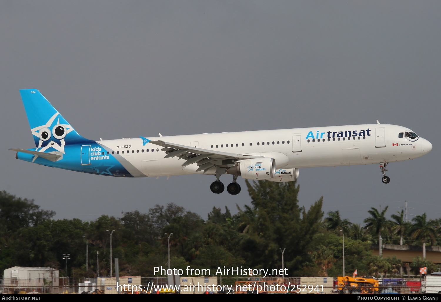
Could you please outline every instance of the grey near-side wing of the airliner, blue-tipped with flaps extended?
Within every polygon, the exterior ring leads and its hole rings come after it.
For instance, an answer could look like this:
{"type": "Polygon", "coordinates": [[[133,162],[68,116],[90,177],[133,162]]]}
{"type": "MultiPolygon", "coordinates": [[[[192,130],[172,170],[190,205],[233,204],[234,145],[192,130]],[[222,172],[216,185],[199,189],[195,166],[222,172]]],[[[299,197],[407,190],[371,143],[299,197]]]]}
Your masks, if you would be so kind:
{"type": "Polygon", "coordinates": [[[162,140],[150,140],[149,143],[153,143],[155,145],[163,147],[161,150],[167,153],[164,158],[176,156],[179,159],[185,159],[185,162],[182,164],[183,167],[196,162],[199,166],[196,172],[204,170],[204,173],[215,166],[226,166],[231,165],[234,162],[242,159],[257,159],[263,157],[207,150],[202,148],[178,145],[175,143],[167,143],[162,140]]]}

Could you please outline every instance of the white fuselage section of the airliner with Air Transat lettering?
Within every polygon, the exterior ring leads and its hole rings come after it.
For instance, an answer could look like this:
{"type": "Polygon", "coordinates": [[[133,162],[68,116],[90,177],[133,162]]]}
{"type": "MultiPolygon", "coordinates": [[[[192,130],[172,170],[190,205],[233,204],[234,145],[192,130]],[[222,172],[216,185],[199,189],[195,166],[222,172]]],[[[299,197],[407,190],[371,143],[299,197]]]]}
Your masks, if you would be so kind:
{"type": "MultiPolygon", "coordinates": [[[[277,169],[344,166],[398,162],[426,155],[429,141],[399,138],[410,129],[386,124],[346,125],[281,130],[204,133],[148,138],[206,150],[275,159],[277,169]]],[[[134,177],[202,174],[196,163],[182,166],[177,157],[141,138],[97,141],[118,159],[134,177]]],[[[205,174],[215,174],[216,168],[205,174]]]]}

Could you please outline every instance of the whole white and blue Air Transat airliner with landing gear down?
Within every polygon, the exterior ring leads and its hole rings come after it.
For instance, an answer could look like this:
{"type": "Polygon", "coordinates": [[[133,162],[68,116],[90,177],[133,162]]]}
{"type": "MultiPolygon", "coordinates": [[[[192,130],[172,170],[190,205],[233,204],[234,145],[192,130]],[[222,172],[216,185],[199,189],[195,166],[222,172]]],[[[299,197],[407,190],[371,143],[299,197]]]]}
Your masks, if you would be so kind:
{"type": "Polygon", "coordinates": [[[238,194],[236,179],[295,181],[299,168],[380,164],[415,159],[432,144],[411,129],[396,125],[345,125],[182,136],[87,140],[36,89],[20,91],[35,148],[10,149],[16,158],[83,173],[118,177],[215,175],[213,193],[222,193],[223,174],[238,194]]]}

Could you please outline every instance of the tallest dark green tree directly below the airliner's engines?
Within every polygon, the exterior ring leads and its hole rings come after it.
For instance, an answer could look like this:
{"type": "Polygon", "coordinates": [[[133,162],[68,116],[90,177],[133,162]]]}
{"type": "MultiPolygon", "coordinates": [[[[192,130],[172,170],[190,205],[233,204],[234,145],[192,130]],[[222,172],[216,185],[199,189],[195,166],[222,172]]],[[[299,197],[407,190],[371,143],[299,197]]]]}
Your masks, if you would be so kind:
{"type": "Polygon", "coordinates": [[[299,186],[295,181],[247,181],[252,207],[240,211],[246,224],[243,258],[255,268],[279,268],[281,250],[284,265],[290,276],[308,263],[312,263],[311,251],[317,245],[315,235],[320,230],[323,212],[322,199],[308,211],[298,205],[299,186]]]}

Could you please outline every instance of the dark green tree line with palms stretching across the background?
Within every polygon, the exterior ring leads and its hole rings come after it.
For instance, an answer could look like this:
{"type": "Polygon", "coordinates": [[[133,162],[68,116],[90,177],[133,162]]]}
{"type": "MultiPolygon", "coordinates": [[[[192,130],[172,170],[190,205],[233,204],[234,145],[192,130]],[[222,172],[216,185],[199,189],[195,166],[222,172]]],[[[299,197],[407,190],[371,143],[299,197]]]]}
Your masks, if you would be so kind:
{"type": "MultiPolygon", "coordinates": [[[[330,211],[324,218],[323,198],[310,208],[300,206],[295,181],[247,181],[247,189],[250,204],[238,207],[235,215],[227,207],[213,207],[207,219],[202,219],[169,203],[156,204],[147,213],[122,212],[119,218],[101,215],[91,222],[55,220],[54,211],[41,210],[34,200],[3,191],[0,270],[48,266],[60,269],[60,276],[109,276],[112,230],[112,257],[119,258],[120,275],[143,277],[152,277],[155,266],[168,267],[168,237],[171,268],[184,272],[188,265],[212,272],[224,266],[280,269],[283,251],[284,267],[293,277],[341,276],[341,232],[345,234],[347,275],[355,269],[359,275],[398,274],[403,266],[399,259],[372,256],[371,246],[378,242],[378,236],[383,244],[438,244],[439,227],[432,220],[426,221],[425,214],[407,223],[403,212],[388,220],[387,207],[382,211],[372,208],[366,225],[361,226],[341,219],[339,211],[330,211]],[[434,232],[426,231],[424,223],[429,223],[434,232]],[[70,255],[67,271],[63,254],[70,255]]],[[[415,271],[418,265],[426,264],[424,261],[415,259],[407,269],[415,271]]],[[[430,263],[423,266],[436,269],[430,263]]]]}

